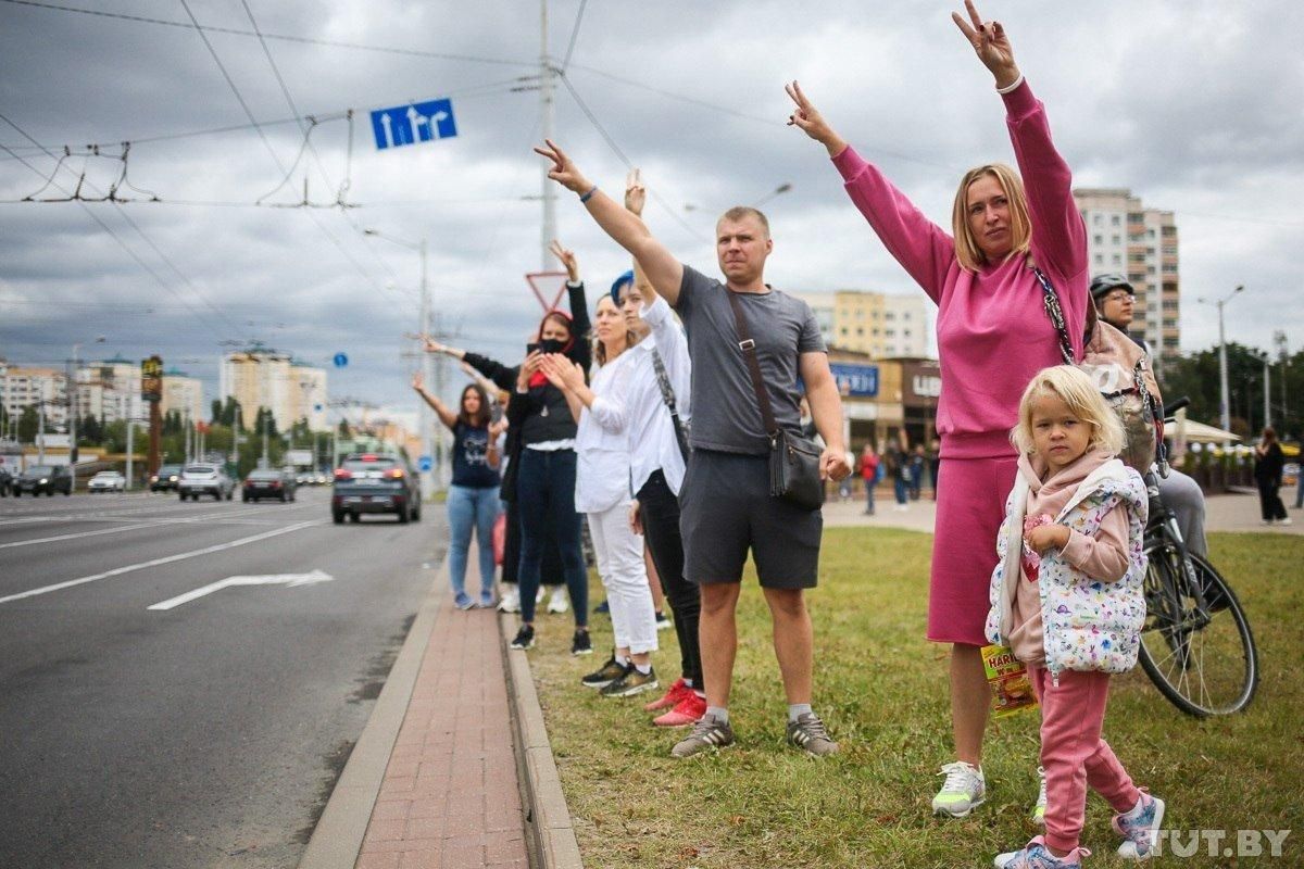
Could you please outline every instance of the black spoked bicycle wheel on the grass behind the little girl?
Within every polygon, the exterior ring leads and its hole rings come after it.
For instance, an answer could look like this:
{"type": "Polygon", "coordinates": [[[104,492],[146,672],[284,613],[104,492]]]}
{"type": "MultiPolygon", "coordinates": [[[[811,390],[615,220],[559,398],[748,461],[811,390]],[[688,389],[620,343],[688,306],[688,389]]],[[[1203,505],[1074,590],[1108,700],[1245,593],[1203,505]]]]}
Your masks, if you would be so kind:
{"type": "Polygon", "coordinates": [[[1171,543],[1158,542],[1146,554],[1141,668],[1189,715],[1244,709],[1258,687],[1258,651],[1236,594],[1197,555],[1189,556],[1188,573],[1171,543]]]}

